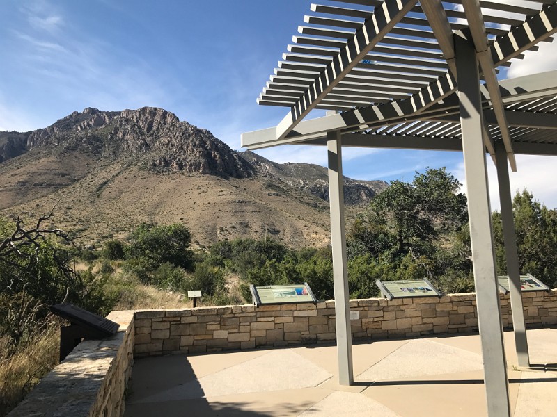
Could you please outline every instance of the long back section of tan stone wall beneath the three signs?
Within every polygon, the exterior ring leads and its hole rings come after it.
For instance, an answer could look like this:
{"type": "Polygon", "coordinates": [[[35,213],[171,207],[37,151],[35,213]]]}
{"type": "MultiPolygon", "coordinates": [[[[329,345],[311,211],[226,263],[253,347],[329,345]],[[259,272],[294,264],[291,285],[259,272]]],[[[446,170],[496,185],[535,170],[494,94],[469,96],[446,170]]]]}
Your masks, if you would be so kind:
{"type": "MultiPolygon", "coordinates": [[[[526,324],[557,324],[557,290],[523,293],[526,324]]],[[[503,327],[512,327],[501,295],[503,327]]],[[[350,300],[354,339],[415,337],[478,330],[476,295],[350,300]]],[[[136,311],[137,357],[334,341],[334,301],[278,306],[219,306],[136,311]]]]}

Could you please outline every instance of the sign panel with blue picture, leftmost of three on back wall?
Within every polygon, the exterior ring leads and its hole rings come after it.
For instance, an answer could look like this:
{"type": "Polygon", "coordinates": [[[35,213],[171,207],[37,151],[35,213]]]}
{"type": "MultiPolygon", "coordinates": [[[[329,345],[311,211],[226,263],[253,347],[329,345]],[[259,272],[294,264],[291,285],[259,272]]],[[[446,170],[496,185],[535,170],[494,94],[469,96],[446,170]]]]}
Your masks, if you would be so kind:
{"type": "Polygon", "coordinates": [[[256,306],[317,302],[307,282],[295,285],[251,285],[249,289],[253,297],[253,304],[256,306]]]}

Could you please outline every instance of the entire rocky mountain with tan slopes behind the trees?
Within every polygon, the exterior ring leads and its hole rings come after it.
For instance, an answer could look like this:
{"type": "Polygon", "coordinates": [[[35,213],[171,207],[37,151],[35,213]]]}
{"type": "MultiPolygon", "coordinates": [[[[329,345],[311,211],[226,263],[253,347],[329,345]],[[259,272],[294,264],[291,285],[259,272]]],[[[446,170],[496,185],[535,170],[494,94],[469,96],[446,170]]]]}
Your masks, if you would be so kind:
{"type": "MultiPolygon", "coordinates": [[[[385,187],[345,178],[347,204],[385,187]]],[[[329,240],[324,167],[235,152],[161,108],[86,108],[45,129],[0,132],[0,195],[1,214],[33,220],[55,207],[54,223],[93,245],[140,222],[185,222],[199,246],[265,233],[294,246],[329,240]]]]}

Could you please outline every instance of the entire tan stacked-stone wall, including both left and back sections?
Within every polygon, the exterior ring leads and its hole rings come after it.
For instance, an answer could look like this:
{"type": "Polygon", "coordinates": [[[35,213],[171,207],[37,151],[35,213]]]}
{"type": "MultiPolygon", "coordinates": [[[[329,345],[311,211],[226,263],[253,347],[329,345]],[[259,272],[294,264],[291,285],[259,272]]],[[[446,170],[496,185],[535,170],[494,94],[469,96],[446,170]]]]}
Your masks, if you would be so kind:
{"type": "MultiPolygon", "coordinates": [[[[557,290],[523,293],[528,327],[557,324],[557,290]]],[[[350,300],[354,339],[418,337],[478,329],[476,297],[350,300]]],[[[503,326],[512,326],[501,295],[503,326]]],[[[120,417],[134,357],[218,352],[259,346],[333,343],[334,301],[278,306],[219,306],[166,311],[113,311],[120,331],[84,341],[43,378],[8,417],[120,417]]]]}

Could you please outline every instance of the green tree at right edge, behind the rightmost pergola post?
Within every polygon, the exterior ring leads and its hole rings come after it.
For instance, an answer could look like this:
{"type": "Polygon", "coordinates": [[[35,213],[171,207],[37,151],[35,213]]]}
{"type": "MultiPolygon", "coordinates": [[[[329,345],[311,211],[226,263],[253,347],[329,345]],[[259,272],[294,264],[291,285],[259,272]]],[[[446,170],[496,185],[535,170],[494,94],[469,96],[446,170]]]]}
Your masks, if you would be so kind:
{"type": "MultiPolygon", "coordinates": [[[[551,288],[557,286],[557,210],[548,209],[531,193],[517,192],[512,201],[515,220],[519,268],[522,274],[531,273],[551,288]]],[[[493,214],[497,268],[505,274],[507,264],[503,245],[501,213],[493,214]]]]}

